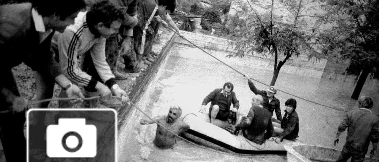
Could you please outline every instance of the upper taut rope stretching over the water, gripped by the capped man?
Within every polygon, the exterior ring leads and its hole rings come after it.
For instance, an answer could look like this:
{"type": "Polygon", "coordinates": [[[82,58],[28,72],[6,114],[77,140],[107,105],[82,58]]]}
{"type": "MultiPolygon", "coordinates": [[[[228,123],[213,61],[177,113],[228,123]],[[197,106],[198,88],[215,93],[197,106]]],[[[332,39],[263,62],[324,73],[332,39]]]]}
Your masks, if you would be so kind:
{"type": "MultiPolygon", "coordinates": [[[[237,72],[237,73],[239,73],[239,74],[245,76],[245,75],[244,75],[243,73],[241,73],[240,71],[234,69],[233,67],[231,67],[230,65],[226,64],[225,62],[222,62],[220,59],[216,58],[216,57],[213,56],[212,54],[208,53],[207,51],[203,50],[202,48],[200,48],[200,47],[197,46],[196,44],[192,43],[191,41],[189,41],[188,39],[186,39],[185,37],[183,37],[182,35],[180,35],[177,31],[175,31],[175,30],[173,30],[172,28],[170,28],[170,27],[168,26],[168,24],[167,24],[166,22],[164,22],[164,20],[159,20],[159,19],[158,19],[158,21],[161,22],[166,28],[168,28],[169,30],[173,31],[175,34],[179,35],[182,39],[184,39],[184,40],[186,40],[187,42],[189,42],[190,44],[192,44],[193,46],[195,46],[195,47],[199,48],[200,50],[204,51],[206,54],[208,54],[209,56],[212,56],[213,58],[215,58],[216,60],[218,60],[218,61],[221,62],[222,64],[226,65],[226,66],[229,67],[230,69],[233,69],[235,72],[237,72]]],[[[265,85],[265,86],[269,86],[268,84],[262,83],[261,81],[255,80],[255,79],[253,79],[253,78],[249,78],[249,79],[254,80],[254,81],[258,82],[258,83],[261,83],[261,84],[263,84],[263,85],[265,85]]],[[[310,102],[310,103],[318,104],[318,105],[320,105],[320,106],[324,106],[324,107],[327,107],[327,108],[330,108],[330,109],[334,109],[334,110],[337,110],[337,111],[348,112],[348,111],[345,111],[345,110],[337,109],[337,108],[335,108],[335,107],[331,107],[331,106],[327,106],[327,105],[324,105],[324,104],[316,103],[315,101],[307,100],[307,99],[302,98],[302,97],[299,97],[299,96],[297,96],[297,95],[293,95],[293,94],[291,94],[291,93],[284,92],[283,90],[280,90],[280,89],[277,89],[277,90],[280,91],[280,92],[283,92],[283,93],[285,93],[285,94],[287,94],[287,95],[291,95],[291,96],[293,96],[293,97],[296,97],[296,98],[299,98],[299,99],[302,99],[302,100],[308,101],[308,102],[310,102]]]]}

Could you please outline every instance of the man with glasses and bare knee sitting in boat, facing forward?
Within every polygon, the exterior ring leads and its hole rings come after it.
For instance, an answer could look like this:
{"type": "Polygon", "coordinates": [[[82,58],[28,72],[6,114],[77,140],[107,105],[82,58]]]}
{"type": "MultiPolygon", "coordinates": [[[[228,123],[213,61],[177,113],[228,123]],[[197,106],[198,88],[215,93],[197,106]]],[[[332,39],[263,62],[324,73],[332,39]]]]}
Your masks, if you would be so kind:
{"type": "Polygon", "coordinates": [[[214,124],[215,119],[218,119],[222,121],[228,120],[229,124],[235,125],[240,103],[236,98],[236,94],[233,92],[233,88],[233,84],[227,82],[222,89],[215,89],[204,98],[199,112],[206,113],[205,106],[211,102],[209,108],[210,123],[214,124]],[[230,109],[232,103],[233,108],[230,109]]]}

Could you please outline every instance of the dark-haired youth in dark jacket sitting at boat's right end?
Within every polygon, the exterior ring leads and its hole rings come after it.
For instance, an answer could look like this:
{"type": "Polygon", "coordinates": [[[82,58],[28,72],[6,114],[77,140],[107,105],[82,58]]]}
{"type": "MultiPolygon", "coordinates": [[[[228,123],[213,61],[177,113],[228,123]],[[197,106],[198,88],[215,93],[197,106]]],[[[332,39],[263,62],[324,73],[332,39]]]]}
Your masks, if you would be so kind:
{"type": "Polygon", "coordinates": [[[283,132],[278,134],[276,142],[283,141],[282,139],[294,141],[296,140],[299,134],[299,116],[295,111],[296,109],[296,100],[293,98],[285,101],[285,114],[282,119],[280,127],[282,127],[283,132]]]}

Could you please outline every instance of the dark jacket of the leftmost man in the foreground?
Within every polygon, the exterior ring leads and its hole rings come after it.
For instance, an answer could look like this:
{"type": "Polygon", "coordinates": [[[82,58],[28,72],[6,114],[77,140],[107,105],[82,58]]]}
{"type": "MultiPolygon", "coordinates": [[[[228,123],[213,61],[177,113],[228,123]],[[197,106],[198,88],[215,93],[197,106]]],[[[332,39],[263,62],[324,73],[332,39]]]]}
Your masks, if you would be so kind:
{"type": "Polygon", "coordinates": [[[31,16],[31,3],[0,6],[0,70],[8,71],[24,62],[31,69],[52,78],[62,74],[50,52],[53,33],[39,43],[39,32],[31,16]]]}

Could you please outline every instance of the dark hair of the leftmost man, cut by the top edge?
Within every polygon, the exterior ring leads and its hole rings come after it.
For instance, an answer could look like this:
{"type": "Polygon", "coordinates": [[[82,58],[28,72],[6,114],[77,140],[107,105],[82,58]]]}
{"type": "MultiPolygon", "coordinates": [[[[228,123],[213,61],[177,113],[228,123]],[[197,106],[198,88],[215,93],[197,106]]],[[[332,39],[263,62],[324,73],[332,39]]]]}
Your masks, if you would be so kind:
{"type": "Polygon", "coordinates": [[[55,14],[60,20],[66,20],[75,12],[84,11],[86,2],[84,0],[31,0],[32,8],[36,9],[42,17],[55,14]]]}

